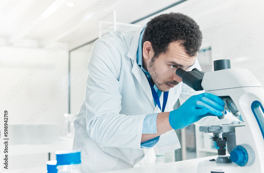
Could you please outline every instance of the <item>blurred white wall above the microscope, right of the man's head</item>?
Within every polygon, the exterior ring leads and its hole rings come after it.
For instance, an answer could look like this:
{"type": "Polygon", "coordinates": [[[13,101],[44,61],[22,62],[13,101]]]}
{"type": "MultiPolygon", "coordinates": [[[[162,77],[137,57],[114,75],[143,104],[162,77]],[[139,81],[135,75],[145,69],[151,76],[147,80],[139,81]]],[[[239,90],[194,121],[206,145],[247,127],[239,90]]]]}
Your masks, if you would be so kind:
{"type": "MultiPolygon", "coordinates": [[[[203,48],[211,46],[212,60],[230,59],[231,68],[246,68],[264,86],[264,12],[252,13],[246,17],[230,18],[207,37],[203,30],[203,48]],[[262,69],[262,71],[260,70],[262,69]]],[[[215,23],[217,21],[208,21],[215,23]]],[[[207,33],[206,33],[207,32],[207,33]]],[[[208,35],[208,34],[207,34],[208,35]]]]}

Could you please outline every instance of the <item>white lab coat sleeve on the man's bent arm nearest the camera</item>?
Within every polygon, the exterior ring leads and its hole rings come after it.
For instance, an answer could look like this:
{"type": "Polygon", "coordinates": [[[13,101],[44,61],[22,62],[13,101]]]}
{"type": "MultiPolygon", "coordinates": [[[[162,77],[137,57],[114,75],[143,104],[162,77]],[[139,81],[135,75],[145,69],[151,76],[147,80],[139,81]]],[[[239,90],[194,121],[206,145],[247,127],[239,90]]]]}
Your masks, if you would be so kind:
{"type": "Polygon", "coordinates": [[[100,147],[141,149],[146,115],[120,114],[122,96],[119,91],[119,70],[123,55],[117,53],[118,45],[114,45],[111,38],[108,39],[95,41],[87,66],[87,133],[100,147]]]}

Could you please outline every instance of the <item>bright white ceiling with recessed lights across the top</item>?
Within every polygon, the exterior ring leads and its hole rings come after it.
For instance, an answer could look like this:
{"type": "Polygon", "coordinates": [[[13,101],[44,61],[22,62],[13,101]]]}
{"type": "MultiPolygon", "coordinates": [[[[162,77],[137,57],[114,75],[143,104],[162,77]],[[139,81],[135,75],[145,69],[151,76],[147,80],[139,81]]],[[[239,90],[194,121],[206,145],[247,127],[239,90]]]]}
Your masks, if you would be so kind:
{"type": "MultiPolygon", "coordinates": [[[[0,44],[17,46],[49,47],[54,43],[66,42],[72,50],[98,38],[98,21],[112,20],[116,11],[118,22],[134,22],[157,12],[175,0],[1,0],[0,44]],[[67,3],[73,3],[69,7],[67,3]],[[96,10],[96,8],[98,10],[96,10]],[[32,26],[33,25],[33,26],[32,26]],[[23,39],[25,38],[25,39],[23,39]],[[21,43],[19,42],[21,41],[21,43]]],[[[193,17],[201,29],[212,27],[212,21],[219,23],[235,21],[236,18],[261,13],[261,0],[187,0],[164,12],[184,12],[193,17]]],[[[162,12],[162,13],[164,13],[162,12]]],[[[261,13],[263,14],[263,13],[261,13]]],[[[138,24],[143,24],[150,17],[138,24]]],[[[263,17],[260,19],[263,22],[263,17]]]]}

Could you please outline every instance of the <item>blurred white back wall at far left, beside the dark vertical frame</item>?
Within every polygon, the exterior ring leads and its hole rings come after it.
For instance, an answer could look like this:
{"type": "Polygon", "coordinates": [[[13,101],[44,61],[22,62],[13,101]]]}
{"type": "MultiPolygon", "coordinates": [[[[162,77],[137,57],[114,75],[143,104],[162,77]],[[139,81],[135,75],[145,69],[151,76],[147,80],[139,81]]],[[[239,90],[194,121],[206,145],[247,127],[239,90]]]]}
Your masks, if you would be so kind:
{"type": "Polygon", "coordinates": [[[41,106],[47,108],[32,124],[58,122],[68,112],[68,93],[59,91],[68,79],[68,52],[59,51],[50,59],[48,53],[50,50],[0,47],[0,104],[10,111],[9,123],[32,119],[41,106]]]}

